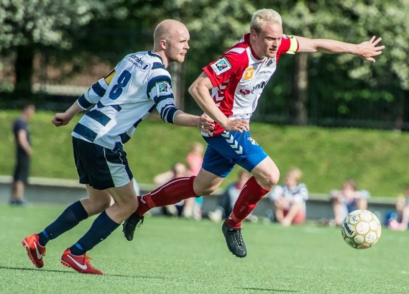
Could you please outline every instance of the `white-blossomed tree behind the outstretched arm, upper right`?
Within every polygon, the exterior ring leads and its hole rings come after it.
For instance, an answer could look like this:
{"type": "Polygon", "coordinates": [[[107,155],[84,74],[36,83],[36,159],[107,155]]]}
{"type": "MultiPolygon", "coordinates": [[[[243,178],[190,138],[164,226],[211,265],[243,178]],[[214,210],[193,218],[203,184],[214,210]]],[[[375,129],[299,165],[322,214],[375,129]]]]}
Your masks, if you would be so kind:
{"type": "MultiPolygon", "coordinates": [[[[406,20],[409,1],[260,0],[258,4],[259,7],[271,7],[281,13],[284,32],[287,34],[352,43],[369,40],[372,35],[376,35],[382,37],[381,44],[387,46],[383,54],[376,58],[375,65],[348,54],[336,57],[325,54],[297,54],[287,106],[293,123],[305,124],[308,121],[309,103],[317,107],[316,97],[315,102],[308,99],[311,92],[314,95],[323,93],[328,100],[325,104],[328,109],[331,109],[334,97],[347,95],[351,99],[351,91],[354,91],[353,98],[372,97],[378,100],[379,95],[376,93],[367,95],[365,91],[368,88],[376,90],[374,92],[379,93],[383,99],[402,100],[402,97],[406,96],[404,93],[409,88],[409,64],[406,61],[409,54],[406,41],[409,36],[409,23],[406,20]],[[393,44],[391,40],[394,40],[393,44]],[[319,60],[328,64],[321,64],[319,60]],[[308,86],[311,80],[314,81],[313,89],[308,86]],[[396,87],[394,80],[399,80],[400,86],[396,87]]],[[[285,78],[287,79],[287,76],[285,78]]],[[[340,107],[337,111],[346,113],[345,110],[346,108],[340,107]]],[[[318,110],[315,108],[314,112],[316,111],[318,110]]]]}

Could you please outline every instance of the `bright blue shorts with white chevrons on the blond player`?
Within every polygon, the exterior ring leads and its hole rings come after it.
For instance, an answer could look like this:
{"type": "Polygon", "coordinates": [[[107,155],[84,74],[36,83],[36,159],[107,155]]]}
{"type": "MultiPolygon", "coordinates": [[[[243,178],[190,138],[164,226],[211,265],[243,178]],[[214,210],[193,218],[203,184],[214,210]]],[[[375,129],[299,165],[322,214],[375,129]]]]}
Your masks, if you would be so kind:
{"type": "Polygon", "coordinates": [[[203,137],[208,143],[202,168],[219,177],[226,177],[238,164],[251,172],[267,153],[250,137],[250,132],[222,132],[216,137],[203,137]]]}

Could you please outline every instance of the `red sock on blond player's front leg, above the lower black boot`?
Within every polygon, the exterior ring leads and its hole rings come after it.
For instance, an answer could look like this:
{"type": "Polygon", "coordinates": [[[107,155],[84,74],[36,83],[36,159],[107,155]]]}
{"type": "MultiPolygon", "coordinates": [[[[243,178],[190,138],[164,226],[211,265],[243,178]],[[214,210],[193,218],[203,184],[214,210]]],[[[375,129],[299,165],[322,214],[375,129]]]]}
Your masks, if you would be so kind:
{"type": "Polygon", "coordinates": [[[254,176],[249,178],[241,189],[233,211],[227,219],[226,224],[228,227],[241,228],[241,222],[253,211],[258,201],[267,193],[268,190],[261,187],[254,176]]]}

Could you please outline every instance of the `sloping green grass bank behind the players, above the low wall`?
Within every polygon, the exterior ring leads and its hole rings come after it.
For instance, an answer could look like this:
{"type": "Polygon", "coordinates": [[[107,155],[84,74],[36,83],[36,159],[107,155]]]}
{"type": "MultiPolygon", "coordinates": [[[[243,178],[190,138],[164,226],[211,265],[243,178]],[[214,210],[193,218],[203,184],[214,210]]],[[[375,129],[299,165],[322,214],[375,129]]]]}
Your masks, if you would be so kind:
{"type": "MultiPolygon", "coordinates": [[[[0,174],[12,173],[14,142],[11,123],[18,112],[0,111],[0,134],[4,144],[0,153],[0,174]]],[[[32,176],[76,179],[69,126],[56,128],[51,112],[37,112],[31,122],[33,142],[32,176]]],[[[277,126],[252,123],[252,136],[281,170],[298,166],[302,181],[313,193],[339,188],[346,178],[355,178],[361,188],[373,196],[396,197],[409,184],[407,158],[409,133],[394,131],[329,129],[319,127],[277,126]]],[[[195,128],[177,127],[148,119],[138,126],[125,150],[132,173],[140,183],[152,183],[153,177],[170,169],[176,161],[185,162],[191,143],[203,143],[195,128]]],[[[223,182],[232,182],[240,167],[223,182]]]]}

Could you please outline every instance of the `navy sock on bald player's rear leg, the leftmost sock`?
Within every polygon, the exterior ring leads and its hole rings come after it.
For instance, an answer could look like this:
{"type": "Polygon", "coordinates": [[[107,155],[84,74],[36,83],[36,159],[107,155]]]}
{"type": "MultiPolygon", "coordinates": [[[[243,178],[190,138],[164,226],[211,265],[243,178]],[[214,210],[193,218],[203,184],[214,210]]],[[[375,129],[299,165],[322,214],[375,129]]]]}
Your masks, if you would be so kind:
{"type": "Polygon", "coordinates": [[[57,238],[62,233],[74,228],[81,220],[88,217],[85,208],[81,201],[74,202],[67,207],[61,215],[52,222],[44,231],[38,233],[38,243],[41,246],[46,246],[49,240],[57,238]]]}

